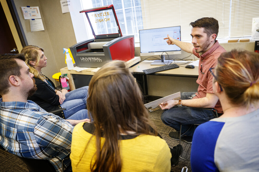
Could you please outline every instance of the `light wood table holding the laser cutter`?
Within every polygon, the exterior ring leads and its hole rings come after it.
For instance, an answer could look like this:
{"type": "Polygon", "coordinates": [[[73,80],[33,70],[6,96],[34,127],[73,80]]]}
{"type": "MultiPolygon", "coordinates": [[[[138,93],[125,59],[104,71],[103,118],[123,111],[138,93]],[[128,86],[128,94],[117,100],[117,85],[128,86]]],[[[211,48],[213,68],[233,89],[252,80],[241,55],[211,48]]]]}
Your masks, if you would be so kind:
{"type": "MultiPolygon", "coordinates": [[[[140,57],[134,57],[133,59],[125,62],[127,67],[130,67],[140,61],[140,57]]],[[[76,70],[68,70],[67,67],[60,69],[61,73],[67,73],[68,84],[71,90],[75,90],[76,88],[80,88],[82,86],[87,86],[95,74],[98,71],[98,68],[88,68],[84,69],[80,72],[76,70]],[[75,80],[75,81],[74,81],[75,80]],[[77,86],[77,83],[81,83],[80,86],[77,86]],[[75,85],[76,83],[76,85],[75,85]]]]}

